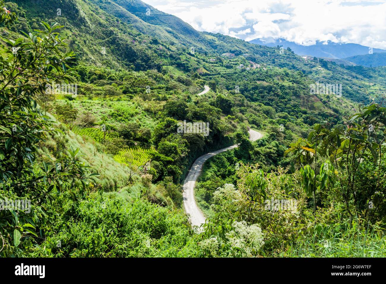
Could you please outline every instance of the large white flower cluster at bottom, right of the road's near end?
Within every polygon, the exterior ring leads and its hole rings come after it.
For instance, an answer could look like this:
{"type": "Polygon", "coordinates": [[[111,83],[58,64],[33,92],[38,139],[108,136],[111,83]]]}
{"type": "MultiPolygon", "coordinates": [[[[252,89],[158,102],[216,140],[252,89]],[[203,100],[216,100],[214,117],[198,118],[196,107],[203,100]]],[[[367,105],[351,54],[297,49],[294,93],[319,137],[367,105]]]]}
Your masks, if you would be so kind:
{"type": "Polygon", "coordinates": [[[248,256],[252,256],[252,250],[257,251],[264,244],[264,235],[261,228],[256,224],[248,226],[245,221],[235,221],[232,226],[234,230],[226,234],[232,247],[240,248],[248,256]]]}

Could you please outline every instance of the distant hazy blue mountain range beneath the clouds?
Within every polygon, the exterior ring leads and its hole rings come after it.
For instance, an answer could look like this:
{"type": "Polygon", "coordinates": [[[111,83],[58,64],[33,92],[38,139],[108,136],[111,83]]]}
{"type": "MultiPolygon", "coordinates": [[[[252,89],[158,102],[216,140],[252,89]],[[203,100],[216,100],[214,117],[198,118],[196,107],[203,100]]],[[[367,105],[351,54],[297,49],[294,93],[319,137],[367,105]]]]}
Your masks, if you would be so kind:
{"type": "MultiPolygon", "coordinates": [[[[304,46],[296,44],[286,39],[260,38],[249,41],[250,43],[260,44],[265,46],[283,46],[291,48],[298,55],[308,55],[320,58],[345,59],[356,55],[373,55],[369,54],[370,48],[356,43],[334,43],[332,41],[317,41],[316,44],[304,46]]],[[[384,53],[385,49],[373,48],[372,53],[384,53]]],[[[349,60],[350,61],[350,60],[349,60]]],[[[352,61],[354,62],[354,61],[352,61]]],[[[356,62],[354,62],[356,63],[356,62]]],[[[358,64],[358,63],[357,63],[358,64]]],[[[374,65],[373,65],[374,66],[374,65]]],[[[378,65],[379,66],[379,65],[378,65]]]]}

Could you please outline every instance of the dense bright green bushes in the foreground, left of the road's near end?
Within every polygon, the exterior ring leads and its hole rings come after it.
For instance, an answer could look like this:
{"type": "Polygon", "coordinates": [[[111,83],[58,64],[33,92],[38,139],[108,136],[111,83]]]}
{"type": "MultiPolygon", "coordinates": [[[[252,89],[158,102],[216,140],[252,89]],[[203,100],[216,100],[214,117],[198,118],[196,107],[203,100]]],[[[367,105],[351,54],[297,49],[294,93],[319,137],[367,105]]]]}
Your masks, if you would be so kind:
{"type": "Polygon", "coordinates": [[[98,196],[74,202],[68,195],[49,212],[57,222],[47,241],[28,256],[176,257],[193,236],[185,216],[148,201],[98,196]]]}

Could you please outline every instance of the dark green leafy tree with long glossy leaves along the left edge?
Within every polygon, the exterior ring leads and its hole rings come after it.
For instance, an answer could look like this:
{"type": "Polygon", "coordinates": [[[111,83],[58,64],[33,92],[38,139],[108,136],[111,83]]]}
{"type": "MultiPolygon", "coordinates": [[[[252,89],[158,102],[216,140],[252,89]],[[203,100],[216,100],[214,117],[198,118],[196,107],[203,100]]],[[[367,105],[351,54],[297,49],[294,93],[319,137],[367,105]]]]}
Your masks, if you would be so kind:
{"type": "MultiPolygon", "coordinates": [[[[3,3],[0,2],[0,13],[3,3]]],[[[3,23],[12,23],[10,13],[3,23]]],[[[39,243],[52,221],[43,204],[52,200],[52,192],[83,184],[89,178],[87,168],[78,161],[79,150],[69,150],[51,162],[35,163],[39,142],[49,133],[58,133],[56,122],[44,115],[36,98],[44,97],[46,84],[70,83],[69,62],[72,52],[56,32],[62,26],[42,23],[36,30],[7,43],[0,56],[0,255],[21,255],[24,240],[39,243]],[[30,202],[22,210],[15,200],[30,202]],[[9,205],[11,204],[11,205],[9,205]],[[22,244],[20,244],[22,243],[22,244]]],[[[27,203],[28,203],[27,202],[27,203]]]]}

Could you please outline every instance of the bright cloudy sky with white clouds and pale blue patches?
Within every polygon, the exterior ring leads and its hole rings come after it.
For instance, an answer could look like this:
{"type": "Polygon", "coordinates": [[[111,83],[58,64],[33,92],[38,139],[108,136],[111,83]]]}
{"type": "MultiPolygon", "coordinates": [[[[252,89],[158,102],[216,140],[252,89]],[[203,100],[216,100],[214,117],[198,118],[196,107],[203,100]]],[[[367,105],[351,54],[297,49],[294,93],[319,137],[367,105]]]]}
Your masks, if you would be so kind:
{"type": "Polygon", "coordinates": [[[386,0],[144,0],[199,31],[386,49],[386,0]]]}

